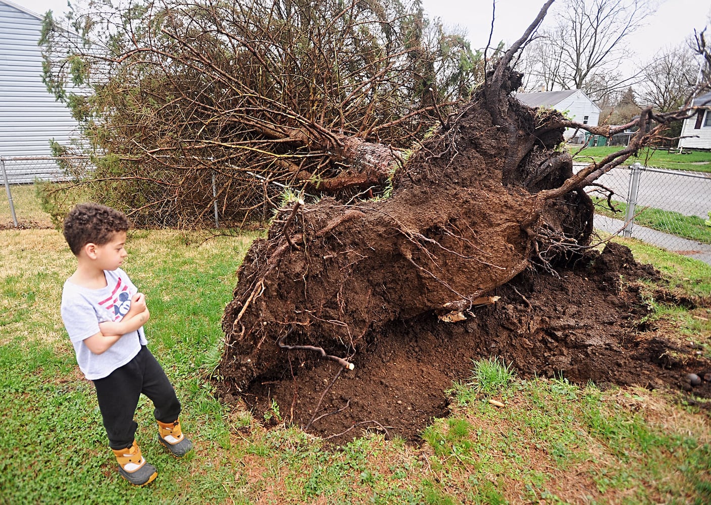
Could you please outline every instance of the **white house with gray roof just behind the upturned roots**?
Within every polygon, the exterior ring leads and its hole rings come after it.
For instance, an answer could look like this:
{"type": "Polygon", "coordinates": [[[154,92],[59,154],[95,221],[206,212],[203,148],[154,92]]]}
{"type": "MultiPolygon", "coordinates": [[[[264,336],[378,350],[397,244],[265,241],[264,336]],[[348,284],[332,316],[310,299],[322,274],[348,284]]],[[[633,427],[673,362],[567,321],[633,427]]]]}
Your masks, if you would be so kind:
{"type": "MultiPolygon", "coordinates": [[[[540,91],[533,93],[516,93],[519,102],[528,107],[545,107],[563,112],[575,122],[597,126],[600,119],[600,107],[590,100],[582,90],[540,91]]],[[[570,140],[575,134],[574,128],[566,128],[563,137],[570,140]]],[[[585,132],[577,132],[582,144],[585,132]]]]}

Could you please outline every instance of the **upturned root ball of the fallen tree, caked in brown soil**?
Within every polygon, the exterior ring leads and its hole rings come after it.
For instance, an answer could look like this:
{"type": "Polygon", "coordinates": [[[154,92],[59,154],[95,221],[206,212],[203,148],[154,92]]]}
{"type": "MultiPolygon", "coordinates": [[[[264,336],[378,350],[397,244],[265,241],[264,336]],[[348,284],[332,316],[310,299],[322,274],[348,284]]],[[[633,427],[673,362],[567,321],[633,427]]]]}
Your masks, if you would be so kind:
{"type": "Polygon", "coordinates": [[[550,269],[589,245],[584,188],[689,112],[643,110],[628,147],[574,174],[561,149],[565,127],[609,136],[631,124],[589,127],[511,94],[521,75],[508,65],[550,4],[469,103],[407,161],[390,159],[390,198],[279,210],[247,253],[225,310],[222,376],[241,389],[288,371],[294,356],[350,368],[393,321],[428,312],[456,320],[527,267],[550,269]]]}

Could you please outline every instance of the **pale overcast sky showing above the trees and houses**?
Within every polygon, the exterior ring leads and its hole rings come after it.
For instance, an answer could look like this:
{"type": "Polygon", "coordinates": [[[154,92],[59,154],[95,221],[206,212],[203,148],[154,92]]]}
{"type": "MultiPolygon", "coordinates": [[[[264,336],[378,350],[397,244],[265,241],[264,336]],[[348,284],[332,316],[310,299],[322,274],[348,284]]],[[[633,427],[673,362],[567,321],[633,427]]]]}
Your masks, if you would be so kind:
{"type": "MultiPolygon", "coordinates": [[[[66,0],[11,1],[38,14],[44,14],[49,9],[58,14],[67,6],[66,0]]],[[[628,40],[629,47],[636,53],[634,60],[640,63],[653,58],[662,48],[683,43],[694,28],[701,30],[709,23],[711,0],[648,1],[658,4],[658,9],[646,20],[646,26],[628,40]]],[[[545,0],[496,0],[493,43],[503,40],[510,44],[516,41],[544,3],[545,0]]],[[[446,26],[464,28],[472,48],[486,46],[491,29],[491,0],[422,0],[422,4],[431,18],[441,18],[446,26]]],[[[707,40],[709,38],[711,36],[707,40]]]]}

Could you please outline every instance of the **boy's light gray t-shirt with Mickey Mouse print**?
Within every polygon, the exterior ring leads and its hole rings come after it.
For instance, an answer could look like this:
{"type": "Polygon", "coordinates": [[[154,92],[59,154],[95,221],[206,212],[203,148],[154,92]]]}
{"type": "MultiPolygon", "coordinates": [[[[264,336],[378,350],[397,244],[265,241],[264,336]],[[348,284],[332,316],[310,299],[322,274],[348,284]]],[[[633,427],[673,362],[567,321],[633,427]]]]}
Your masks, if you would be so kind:
{"type": "Polygon", "coordinates": [[[129,312],[131,297],[138,291],[126,272],[104,270],[106,287],[89,289],[67,280],[62,291],[61,313],[64,326],[77,354],[77,363],[87,379],[104,378],[131,361],[146,345],[141,326],[137,331],[122,335],[114,345],[101,354],[92,353],[84,339],[99,333],[99,323],[120,321],[129,312]]]}

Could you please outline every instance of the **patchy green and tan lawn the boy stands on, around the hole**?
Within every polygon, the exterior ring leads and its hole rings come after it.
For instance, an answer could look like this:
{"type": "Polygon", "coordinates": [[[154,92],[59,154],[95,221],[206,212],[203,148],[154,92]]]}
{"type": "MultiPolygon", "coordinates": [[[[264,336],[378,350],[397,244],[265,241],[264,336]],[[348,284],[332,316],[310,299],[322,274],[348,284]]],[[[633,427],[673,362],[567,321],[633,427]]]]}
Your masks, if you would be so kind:
{"type": "MultiPolygon", "coordinates": [[[[298,427],[267,430],[241,403],[220,404],[208,379],[222,353],[220,318],[255,236],[129,233],[124,268],[146,293],[149,346],[176,385],[196,447],[181,460],[161,450],[141,401],[137,439],[159,476],[136,489],[114,469],[92,384],[59,316],[73,256],[52,228],[0,230],[0,503],[711,502],[709,410],[659,390],[523,380],[491,358],[452,384],[451,415],[432,420],[419,446],[373,434],[329,447],[298,427]]],[[[679,292],[711,297],[708,265],[624,242],[679,292]]],[[[708,308],[694,314],[711,319],[708,308]]],[[[711,343],[711,324],[673,317],[680,334],[711,343]]]]}

